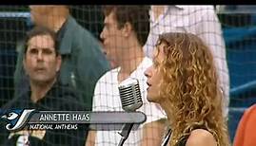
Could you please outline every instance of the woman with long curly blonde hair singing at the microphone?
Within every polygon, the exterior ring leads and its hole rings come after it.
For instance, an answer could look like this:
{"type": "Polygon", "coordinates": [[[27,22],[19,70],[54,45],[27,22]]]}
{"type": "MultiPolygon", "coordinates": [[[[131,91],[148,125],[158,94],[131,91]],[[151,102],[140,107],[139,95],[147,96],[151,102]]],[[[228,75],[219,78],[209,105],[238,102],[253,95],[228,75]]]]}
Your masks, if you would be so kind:
{"type": "Polygon", "coordinates": [[[200,38],[160,35],[145,75],[148,100],[161,105],[171,127],[162,145],[230,145],[213,58],[200,38]]]}

